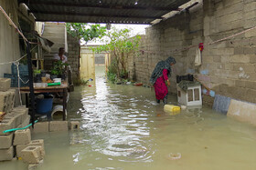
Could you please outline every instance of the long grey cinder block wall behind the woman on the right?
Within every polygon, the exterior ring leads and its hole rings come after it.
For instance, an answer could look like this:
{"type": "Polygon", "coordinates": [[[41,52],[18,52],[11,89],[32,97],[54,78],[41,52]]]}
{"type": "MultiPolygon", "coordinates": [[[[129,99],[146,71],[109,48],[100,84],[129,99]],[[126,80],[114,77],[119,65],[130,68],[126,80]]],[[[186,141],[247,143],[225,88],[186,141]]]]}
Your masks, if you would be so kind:
{"type": "MultiPolygon", "coordinates": [[[[211,42],[256,26],[255,0],[201,0],[199,4],[146,29],[141,50],[129,56],[130,77],[149,85],[155,65],[176,58],[169,91],[176,93],[176,75],[197,75],[216,94],[256,103],[256,29],[214,45],[211,42]],[[202,65],[195,66],[196,47],[204,43],[202,65]],[[176,51],[177,49],[177,51],[176,51]]],[[[206,101],[213,101],[208,97],[206,101]]]]}

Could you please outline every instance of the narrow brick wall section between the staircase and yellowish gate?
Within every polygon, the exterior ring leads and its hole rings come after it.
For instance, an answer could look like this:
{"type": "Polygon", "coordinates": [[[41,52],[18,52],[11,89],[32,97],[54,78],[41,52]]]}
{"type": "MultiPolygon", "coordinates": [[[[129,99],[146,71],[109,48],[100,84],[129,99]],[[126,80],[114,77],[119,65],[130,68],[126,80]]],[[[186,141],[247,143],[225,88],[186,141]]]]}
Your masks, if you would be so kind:
{"type": "Polygon", "coordinates": [[[73,80],[80,77],[80,44],[79,40],[68,34],[68,63],[71,66],[73,80]]]}

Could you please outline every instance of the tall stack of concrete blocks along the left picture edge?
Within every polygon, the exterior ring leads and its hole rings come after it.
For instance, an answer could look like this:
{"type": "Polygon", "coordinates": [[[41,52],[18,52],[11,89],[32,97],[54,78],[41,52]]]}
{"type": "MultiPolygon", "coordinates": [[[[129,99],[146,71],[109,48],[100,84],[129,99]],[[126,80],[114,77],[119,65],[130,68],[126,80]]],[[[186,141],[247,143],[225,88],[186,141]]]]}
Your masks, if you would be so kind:
{"type": "Polygon", "coordinates": [[[0,112],[5,112],[0,122],[0,161],[12,160],[15,156],[14,132],[4,133],[4,131],[24,127],[30,120],[25,106],[14,108],[16,90],[10,89],[10,81],[10,79],[0,78],[0,112]]]}

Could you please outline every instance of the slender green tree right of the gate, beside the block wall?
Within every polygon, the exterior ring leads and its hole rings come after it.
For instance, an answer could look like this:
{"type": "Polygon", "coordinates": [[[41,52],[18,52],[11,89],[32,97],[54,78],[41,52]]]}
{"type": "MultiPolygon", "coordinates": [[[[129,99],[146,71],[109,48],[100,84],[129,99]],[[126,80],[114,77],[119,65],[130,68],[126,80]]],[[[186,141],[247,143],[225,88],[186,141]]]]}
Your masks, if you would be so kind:
{"type": "Polygon", "coordinates": [[[117,72],[117,77],[126,76],[127,57],[130,53],[138,50],[141,36],[135,35],[131,37],[131,30],[126,28],[117,30],[115,27],[112,27],[112,30],[108,31],[106,36],[107,38],[102,40],[104,45],[91,49],[94,53],[102,51],[111,53],[114,56],[112,67],[117,72]]]}

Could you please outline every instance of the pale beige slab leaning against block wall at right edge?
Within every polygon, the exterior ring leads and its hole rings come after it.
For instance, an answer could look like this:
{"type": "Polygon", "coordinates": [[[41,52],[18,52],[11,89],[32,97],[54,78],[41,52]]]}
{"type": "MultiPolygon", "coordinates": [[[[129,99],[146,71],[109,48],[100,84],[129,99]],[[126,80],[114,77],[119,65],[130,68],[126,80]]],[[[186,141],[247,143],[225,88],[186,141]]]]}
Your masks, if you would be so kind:
{"type": "Polygon", "coordinates": [[[231,99],[228,116],[256,125],[256,105],[231,99]]]}

